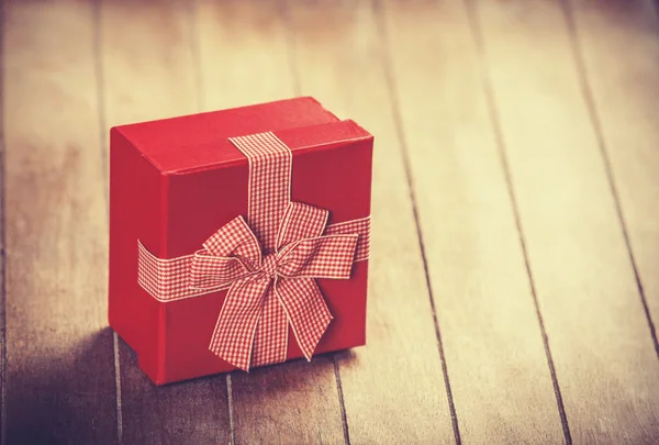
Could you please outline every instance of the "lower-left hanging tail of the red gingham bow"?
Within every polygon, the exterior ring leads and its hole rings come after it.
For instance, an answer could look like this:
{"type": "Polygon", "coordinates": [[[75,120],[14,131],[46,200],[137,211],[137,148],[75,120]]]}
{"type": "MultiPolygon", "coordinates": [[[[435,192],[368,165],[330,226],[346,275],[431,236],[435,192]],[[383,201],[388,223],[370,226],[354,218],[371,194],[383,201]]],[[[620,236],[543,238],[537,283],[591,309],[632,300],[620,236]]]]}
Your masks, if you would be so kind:
{"type": "Polygon", "coordinates": [[[226,294],[209,349],[245,371],[249,370],[254,336],[271,280],[258,274],[234,281],[226,294]]]}

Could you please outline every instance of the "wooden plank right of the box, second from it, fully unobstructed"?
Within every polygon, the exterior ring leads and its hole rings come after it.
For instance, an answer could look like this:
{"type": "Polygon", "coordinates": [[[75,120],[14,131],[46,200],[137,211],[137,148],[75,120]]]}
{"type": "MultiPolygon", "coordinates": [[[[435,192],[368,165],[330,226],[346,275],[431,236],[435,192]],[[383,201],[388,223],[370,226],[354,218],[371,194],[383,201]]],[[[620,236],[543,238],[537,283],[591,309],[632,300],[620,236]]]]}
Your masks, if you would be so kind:
{"type": "Polygon", "coordinates": [[[560,443],[467,11],[388,1],[383,14],[461,438],[560,443]]]}

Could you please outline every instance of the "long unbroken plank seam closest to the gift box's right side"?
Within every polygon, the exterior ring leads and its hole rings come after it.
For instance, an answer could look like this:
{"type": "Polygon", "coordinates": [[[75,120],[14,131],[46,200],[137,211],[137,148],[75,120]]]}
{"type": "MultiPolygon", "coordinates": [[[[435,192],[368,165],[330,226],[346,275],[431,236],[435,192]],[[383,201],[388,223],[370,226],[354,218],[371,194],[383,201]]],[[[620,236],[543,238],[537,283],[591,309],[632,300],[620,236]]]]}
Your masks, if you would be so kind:
{"type": "Polygon", "coordinates": [[[431,303],[431,311],[433,313],[435,337],[437,341],[439,361],[442,364],[442,374],[444,377],[444,385],[445,385],[446,397],[447,397],[447,402],[448,402],[448,410],[450,413],[450,421],[451,421],[451,426],[453,426],[453,431],[454,431],[454,437],[456,441],[456,445],[461,445],[462,441],[460,437],[460,427],[458,424],[458,416],[456,413],[456,407],[455,407],[453,391],[451,391],[451,387],[450,387],[450,380],[448,377],[448,367],[446,365],[446,355],[444,354],[444,345],[442,342],[439,321],[437,319],[437,309],[435,305],[435,296],[433,292],[431,276],[429,276],[429,271],[428,271],[428,262],[427,262],[427,257],[426,257],[426,253],[425,253],[423,232],[422,232],[421,223],[418,220],[416,193],[414,191],[414,182],[412,179],[412,169],[410,166],[410,154],[409,154],[409,149],[407,149],[405,133],[403,130],[402,116],[400,114],[400,104],[399,104],[398,93],[396,93],[396,89],[395,89],[395,80],[393,78],[391,55],[389,54],[390,45],[389,45],[389,35],[388,35],[387,26],[384,24],[384,18],[383,18],[384,12],[381,7],[380,0],[372,0],[372,8],[373,8],[376,21],[377,21],[377,27],[378,27],[378,31],[379,31],[379,34],[381,37],[381,42],[382,42],[382,44],[380,46],[381,63],[382,63],[382,68],[384,71],[384,77],[386,77],[386,81],[387,81],[387,86],[388,86],[388,90],[389,90],[389,96],[391,99],[398,145],[399,145],[399,149],[401,152],[401,157],[403,160],[402,164],[403,164],[403,170],[405,173],[405,180],[407,182],[407,193],[410,196],[410,201],[412,203],[412,215],[414,218],[414,226],[416,230],[416,237],[418,240],[418,248],[420,248],[420,253],[421,253],[421,259],[423,263],[425,283],[426,283],[426,289],[428,291],[428,300],[431,303]]]}

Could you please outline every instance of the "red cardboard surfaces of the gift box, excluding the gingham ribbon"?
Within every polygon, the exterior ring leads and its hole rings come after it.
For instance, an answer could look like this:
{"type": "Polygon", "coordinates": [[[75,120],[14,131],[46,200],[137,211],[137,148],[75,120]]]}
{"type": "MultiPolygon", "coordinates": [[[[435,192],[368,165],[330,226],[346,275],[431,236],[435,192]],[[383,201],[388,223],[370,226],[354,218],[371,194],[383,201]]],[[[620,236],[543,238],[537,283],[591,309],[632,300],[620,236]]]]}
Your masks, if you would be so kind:
{"type": "MultiPolygon", "coordinates": [[[[156,383],[235,369],[209,344],[227,290],[161,302],[137,283],[137,242],[159,258],[190,255],[247,216],[248,162],[228,137],[271,131],[292,152],[291,200],[327,224],[370,215],[373,137],[312,98],[116,126],[110,137],[112,329],[156,383]]],[[[334,316],[315,353],[366,343],[368,260],[350,279],[316,279],[334,316]]],[[[289,325],[287,360],[302,357],[289,325]]]]}

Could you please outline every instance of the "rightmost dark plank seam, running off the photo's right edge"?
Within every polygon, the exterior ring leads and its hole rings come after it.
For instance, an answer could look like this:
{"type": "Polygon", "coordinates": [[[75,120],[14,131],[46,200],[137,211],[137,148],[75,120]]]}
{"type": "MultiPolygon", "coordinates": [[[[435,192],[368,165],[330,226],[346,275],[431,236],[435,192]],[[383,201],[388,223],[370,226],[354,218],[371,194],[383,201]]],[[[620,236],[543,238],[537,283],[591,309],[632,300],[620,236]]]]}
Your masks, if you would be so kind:
{"type": "Polygon", "coordinates": [[[588,84],[588,78],[589,78],[588,69],[585,67],[585,60],[583,58],[583,49],[582,49],[581,43],[579,41],[579,32],[578,32],[577,21],[574,19],[571,3],[569,1],[561,0],[561,7],[562,7],[563,15],[565,15],[565,20],[567,22],[567,26],[568,26],[568,33],[569,33],[570,42],[571,42],[570,46],[572,48],[572,56],[574,57],[574,64],[577,65],[577,70],[579,74],[579,86],[581,88],[581,93],[583,96],[585,107],[588,108],[588,113],[589,113],[591,124],[593,125],[595,138],[597,141],[597,148],[600,149],[602,163],[604,164],[604,170],[606,171],[606,180],[608,182],[611,194],[613,196],[615,212],[618,218],[618,222],[621,225],[621,232],[623,234],[623,238],[625,241],[625,246],[626,246],[627,253],[629,255],[629,263],[630,263],[632,269],[634,271],[634,279],[636,280],[636,289],[638,290],[640,303],[643,304],[643,310],[645,312],[645,316],[648,322],[648,329],[650,331],[650,337],[652,338],[652,343],[655,346],[655,353],[657,354],[657,358],[659,358],[659,341],[657,338],[657,330],[655,327],[655,322],[652,321],[652,315],[650,313],[648,300],[645,294],[645,289],[643,287],[640,272],[638,271],[638,264],[636,262],[636,257],[634,256],[634,249],[632,247],[632,241],[629,240],[629,231],[627,229],[627,223],[625,222],[625,216],[623,214],[623,208],[621,204],[619,193],[617,191],[617,187],[615,186],[615,177],[613,174],[613,167],[611,165],[611,158],[608,156],[606,142],[604,141],[604,132],[602,130],[602,122],[600,120],[600,115],[597,114],[593,92],[588,84]]]}

